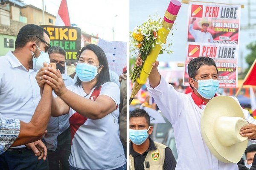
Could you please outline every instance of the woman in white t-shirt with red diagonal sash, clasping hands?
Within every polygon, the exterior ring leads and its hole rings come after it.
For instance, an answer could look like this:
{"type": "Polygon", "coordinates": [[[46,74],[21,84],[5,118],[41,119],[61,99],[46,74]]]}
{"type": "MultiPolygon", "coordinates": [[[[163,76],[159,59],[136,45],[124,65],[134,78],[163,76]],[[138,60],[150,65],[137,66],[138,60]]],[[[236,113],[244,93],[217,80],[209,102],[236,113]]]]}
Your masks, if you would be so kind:
{"type": "Polygon", "coordinates": [[[116,83],[110,82],[108,60],[97,45],[81,49],[75,85],[64,85],[59,71],[43,68],[37,74],[53,89],[52,116],[69,113],[71,128],[70,170],[125,170],[125,156],[119,139],[119,98],[116,83]]]}

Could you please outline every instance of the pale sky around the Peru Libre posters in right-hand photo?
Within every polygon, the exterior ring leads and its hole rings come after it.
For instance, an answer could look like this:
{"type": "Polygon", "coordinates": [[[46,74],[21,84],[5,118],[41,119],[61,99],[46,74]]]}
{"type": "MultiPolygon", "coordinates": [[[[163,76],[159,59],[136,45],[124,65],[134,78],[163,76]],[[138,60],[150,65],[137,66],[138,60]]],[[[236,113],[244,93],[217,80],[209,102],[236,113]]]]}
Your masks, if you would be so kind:
{"type": "MultiPolygon", "coordinates": [[[[181,1],[181,0],[179,0],[181,1]]],[[[248,24],[248,2],[251,2],[250,15],[256,18],[256,2],[254,0],[197,0],[215,3],[230,3],[230,4],[243,4],[244,8],[241,9],[241,26],[248,24]]],[[[163,17],[168,7],[170,0],[130,0],[130,26],[129,30],[133,31],[135,26],[141,25],[147,20],[149,15],[158,14],[163,17]]],[[[172,54],[161,54],[158,56],[159,61],[182,61],[185,62],[186,58],[186,41],[187,41],[187,28],[188,28],[188,4],[182,3],[180,11],[173,26],[173,37],[169,34],[169,40],[172,40],[173,45],[171,50],[172,54]]],[[[251,24],[256,23],[256,19],[250,20],[251,24]]],[[[239,66],[247,68],[247,63],[244,57],[250,52],[246,49],[246,45],[250,42],[256,41],[256,30],[242,30],[239,33],[239,66]],[[241,62],[241,54],[243,62],[241,62]]]]}

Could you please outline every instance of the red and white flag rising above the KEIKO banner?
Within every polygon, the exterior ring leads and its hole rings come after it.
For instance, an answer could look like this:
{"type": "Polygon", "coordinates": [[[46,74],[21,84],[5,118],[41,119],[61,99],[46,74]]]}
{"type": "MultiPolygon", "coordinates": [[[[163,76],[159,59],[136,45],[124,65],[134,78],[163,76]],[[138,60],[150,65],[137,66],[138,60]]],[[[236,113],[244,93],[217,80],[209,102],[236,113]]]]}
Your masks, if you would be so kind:
{"type": "Polygon", "coordinates": [[[61,0],[61,5],[55,20],[55,26],[70,26],[70,18],[66,0],[61,0]]]}

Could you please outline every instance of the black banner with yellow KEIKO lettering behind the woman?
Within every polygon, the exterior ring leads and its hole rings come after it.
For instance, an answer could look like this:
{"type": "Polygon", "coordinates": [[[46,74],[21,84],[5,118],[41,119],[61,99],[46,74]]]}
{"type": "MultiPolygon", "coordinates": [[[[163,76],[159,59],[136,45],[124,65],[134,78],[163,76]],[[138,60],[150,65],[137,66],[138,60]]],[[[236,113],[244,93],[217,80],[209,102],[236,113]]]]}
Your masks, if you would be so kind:
{"type": "Polygon", "coordinates": [[[81,29],[69,26],[41,26],[50,34],[50,45],[66,51],[66,62],[77,62],[81,49],[81,29]]]}

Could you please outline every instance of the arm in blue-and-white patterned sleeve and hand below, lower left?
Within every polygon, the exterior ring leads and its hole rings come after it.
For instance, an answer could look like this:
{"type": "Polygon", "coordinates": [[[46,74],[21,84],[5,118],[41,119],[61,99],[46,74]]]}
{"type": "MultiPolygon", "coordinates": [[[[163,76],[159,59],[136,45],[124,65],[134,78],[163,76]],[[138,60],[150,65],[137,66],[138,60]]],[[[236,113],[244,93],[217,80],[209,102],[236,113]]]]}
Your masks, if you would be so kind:
{"type": "MultiPolygon", "coordinates": [[[[7,118],[0,114],[0,154],[9,147],[20,146],[43,138],[51,113],[52,88],[45,87],[38,107],[30,122],[7,118]]],[[[42,142],[35,142],[40,148],[38,159],[46,159],[47,148],[42,142]]]]}

